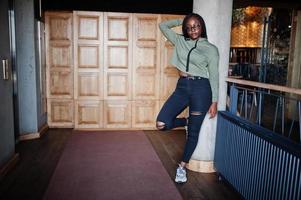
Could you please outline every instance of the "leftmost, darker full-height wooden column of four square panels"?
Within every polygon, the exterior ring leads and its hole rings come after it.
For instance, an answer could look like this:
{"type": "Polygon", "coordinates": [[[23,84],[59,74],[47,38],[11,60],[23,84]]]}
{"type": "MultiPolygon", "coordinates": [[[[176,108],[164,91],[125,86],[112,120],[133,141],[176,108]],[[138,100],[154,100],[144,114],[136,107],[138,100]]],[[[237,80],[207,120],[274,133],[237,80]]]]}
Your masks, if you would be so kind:
{"type": "Polygon", "coordinates": [[[49,127],[73,127],[72,13],[46,12],[46,87],[49,127]]]}

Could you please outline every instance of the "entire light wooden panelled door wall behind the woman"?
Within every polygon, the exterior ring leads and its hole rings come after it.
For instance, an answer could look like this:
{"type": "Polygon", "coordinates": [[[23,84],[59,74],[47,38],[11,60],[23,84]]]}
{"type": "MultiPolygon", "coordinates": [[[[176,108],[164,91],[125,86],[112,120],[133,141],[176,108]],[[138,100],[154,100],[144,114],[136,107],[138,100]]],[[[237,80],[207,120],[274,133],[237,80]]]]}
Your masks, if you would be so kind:
{"type": "Polygon", "coordinates": [[[159,109],[178,79],[169,64],[173,46],[158,24],[180,17],[47,12],[48,125],[155,129],[159,109]]]}

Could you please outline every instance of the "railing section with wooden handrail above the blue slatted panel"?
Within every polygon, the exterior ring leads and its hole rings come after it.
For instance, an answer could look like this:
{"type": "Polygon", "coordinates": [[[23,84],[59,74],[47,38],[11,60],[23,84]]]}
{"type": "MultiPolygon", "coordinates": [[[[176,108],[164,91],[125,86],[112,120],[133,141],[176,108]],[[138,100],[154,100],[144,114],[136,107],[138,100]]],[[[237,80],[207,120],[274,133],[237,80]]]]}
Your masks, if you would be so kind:
{"type": "Polygon", "coordinates": [[[226,80],[231,113],[301,143],[301,89],[230,77],[226,80]]]}

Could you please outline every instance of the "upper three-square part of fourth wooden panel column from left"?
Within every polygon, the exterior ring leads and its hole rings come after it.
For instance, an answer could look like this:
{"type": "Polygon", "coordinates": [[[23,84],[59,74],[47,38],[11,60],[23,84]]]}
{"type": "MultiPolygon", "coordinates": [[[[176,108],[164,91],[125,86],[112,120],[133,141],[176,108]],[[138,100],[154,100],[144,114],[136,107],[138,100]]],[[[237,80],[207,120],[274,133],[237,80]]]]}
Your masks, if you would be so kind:
{"type": "Polygon", "coordinates": [[[159,99],[159,15],[134,15],[133,98],[159,99]]]}

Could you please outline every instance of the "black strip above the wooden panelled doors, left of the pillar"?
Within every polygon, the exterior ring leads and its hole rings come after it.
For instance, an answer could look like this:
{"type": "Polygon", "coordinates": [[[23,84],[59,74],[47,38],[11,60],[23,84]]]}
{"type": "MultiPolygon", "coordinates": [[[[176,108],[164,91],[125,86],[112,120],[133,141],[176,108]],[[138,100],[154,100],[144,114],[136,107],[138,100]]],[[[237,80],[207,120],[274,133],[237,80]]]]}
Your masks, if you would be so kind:
{"type": "Polygon", "coordinates": [[[193,0],[42,0],[43,10],[187,14],[193,0]]]}

